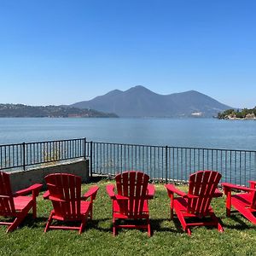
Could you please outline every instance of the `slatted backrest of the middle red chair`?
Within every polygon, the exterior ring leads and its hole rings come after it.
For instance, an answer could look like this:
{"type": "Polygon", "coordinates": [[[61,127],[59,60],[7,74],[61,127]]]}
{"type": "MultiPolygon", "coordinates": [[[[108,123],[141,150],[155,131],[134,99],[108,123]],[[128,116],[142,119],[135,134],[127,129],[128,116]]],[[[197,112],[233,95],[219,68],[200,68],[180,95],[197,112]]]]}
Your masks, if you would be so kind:
{"type": "Polygon", "coordinates": [[[115,177],[118,195],[129,200],[119,201],[120,212],[136,218],[143,213],[143,204],[147,200],[149,176],[143,172],[123,172],[115,177]]]}

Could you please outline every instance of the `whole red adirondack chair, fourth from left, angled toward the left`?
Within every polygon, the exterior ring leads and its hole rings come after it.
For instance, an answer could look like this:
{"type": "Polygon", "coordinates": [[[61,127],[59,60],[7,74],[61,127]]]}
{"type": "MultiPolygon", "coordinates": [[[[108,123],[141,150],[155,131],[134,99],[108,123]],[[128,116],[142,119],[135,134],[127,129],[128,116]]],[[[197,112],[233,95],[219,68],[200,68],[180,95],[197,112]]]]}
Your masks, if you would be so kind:
{"type": "Polygon", "coordinates": [[[212,207],[210,206],[212,197],[221,196],[222,193],[217,189],[221,174],[213,171],[199,171],[189,177],[189,193],[180,191],[172,184],[166,184],[168,195],[171,199],[171,219],[173,209],[177,218],[189,236],[190,227],[213,225],[218,227],[218,231],[223,232],[223,227],[218,222],[212,207]],[[180,195],[175,198],[174,194],[180,195]],[[210,217],[207,221],[205,217],[210,217]],[[188,223],[187,218],[199,218],[199,222],[188,223]]]}

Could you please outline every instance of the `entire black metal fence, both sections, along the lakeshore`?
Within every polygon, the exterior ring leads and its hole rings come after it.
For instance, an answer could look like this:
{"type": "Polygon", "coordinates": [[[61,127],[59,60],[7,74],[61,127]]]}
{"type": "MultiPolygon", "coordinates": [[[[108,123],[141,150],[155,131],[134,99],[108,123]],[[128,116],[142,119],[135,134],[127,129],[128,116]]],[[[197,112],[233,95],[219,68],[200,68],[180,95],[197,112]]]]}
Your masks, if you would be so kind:
{"type": "Polygon", "coordinates": [[[152,179],[185,183],[193,172],[215,170],[223,182],[245,185],[256,180],[256,151],[96,143],[85,138],[0,145],[2,170],[26,171],[26,166],[77,158],[90,159],[91,174],[140,170],[152,179]]]}

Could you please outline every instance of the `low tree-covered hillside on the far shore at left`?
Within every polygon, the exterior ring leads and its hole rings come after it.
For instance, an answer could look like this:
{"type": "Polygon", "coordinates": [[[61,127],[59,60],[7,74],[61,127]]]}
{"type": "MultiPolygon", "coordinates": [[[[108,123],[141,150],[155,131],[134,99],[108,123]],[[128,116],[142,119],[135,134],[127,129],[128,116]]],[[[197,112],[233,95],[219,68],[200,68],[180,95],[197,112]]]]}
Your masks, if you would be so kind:
{"type": "Polygon", "coordinates": [[[32,107],[22,104],[0,104],[0,117],[117,117],[93,109],[61,106],[32,107]]]}

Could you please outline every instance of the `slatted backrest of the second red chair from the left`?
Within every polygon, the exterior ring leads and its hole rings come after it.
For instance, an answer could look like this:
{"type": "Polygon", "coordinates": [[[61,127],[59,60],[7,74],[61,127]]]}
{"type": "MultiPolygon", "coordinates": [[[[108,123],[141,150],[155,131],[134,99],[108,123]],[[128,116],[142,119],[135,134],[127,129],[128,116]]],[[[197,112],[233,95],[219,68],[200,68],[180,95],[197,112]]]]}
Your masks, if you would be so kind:
{"type": "Polygon", "coordinates": [[[67,173],[53,173],[45,177],[55,215],[63,219],[80,218],[81,177],[67,173]]]}

